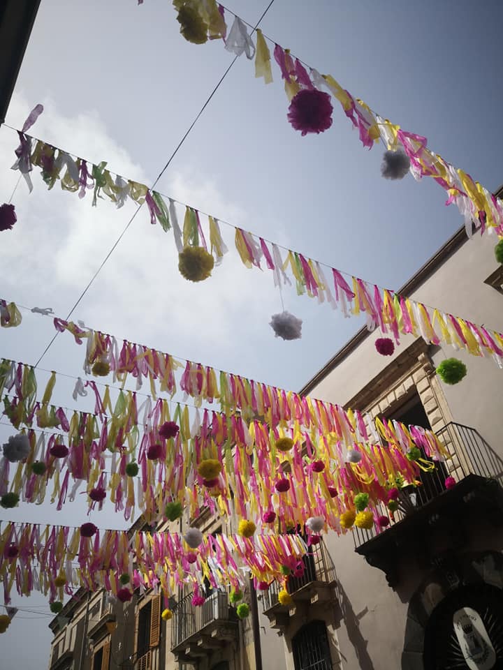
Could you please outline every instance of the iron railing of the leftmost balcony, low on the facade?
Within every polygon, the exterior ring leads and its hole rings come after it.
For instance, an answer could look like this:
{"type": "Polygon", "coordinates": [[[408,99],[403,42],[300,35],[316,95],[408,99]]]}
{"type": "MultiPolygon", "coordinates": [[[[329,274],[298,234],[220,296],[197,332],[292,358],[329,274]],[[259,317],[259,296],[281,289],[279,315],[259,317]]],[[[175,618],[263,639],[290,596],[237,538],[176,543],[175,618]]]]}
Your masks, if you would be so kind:
{"type": "Polygon", "coordinates": [[[202,605],[197,607],[191,602],[193,595],[189,593],[184,596],[173,610],[172,649],[202,631],[213,621],[229,620],[231,616],[226,593],[214,591],[202,605]]]}

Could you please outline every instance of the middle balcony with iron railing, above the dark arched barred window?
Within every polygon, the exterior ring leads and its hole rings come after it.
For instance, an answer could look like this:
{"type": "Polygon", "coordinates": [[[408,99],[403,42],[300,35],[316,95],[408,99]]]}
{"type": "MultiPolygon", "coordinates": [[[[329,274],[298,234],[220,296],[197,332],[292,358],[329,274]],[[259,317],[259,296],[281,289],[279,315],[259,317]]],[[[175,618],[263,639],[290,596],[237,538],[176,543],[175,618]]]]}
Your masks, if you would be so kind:
{"type": "Polygon", "coordinates": [[[302,560],[304,574],[302,577],[290,577],[286,584],[292,604],[286,606],[279,603],[278,594],[282,587],[276,581],[259,595],[263,613],[271,627],[280,631],[288,625],[291,617],[305,613],[309,606],[335,598],[335,567],[323,540],[310,546],[309,553],[302,560]]]}

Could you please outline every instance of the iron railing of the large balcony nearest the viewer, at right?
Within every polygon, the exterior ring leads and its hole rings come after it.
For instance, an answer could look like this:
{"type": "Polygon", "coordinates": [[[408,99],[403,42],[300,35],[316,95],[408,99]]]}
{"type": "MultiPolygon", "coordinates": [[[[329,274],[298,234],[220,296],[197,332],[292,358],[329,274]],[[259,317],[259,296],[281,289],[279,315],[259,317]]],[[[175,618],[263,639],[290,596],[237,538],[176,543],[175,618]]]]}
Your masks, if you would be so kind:
{"type": "MultiPolygon", "coordinates": [[[[479,475],[488,479],[497,479],[503,484],[503,461],[491,449],[479,431],[470,426],[464,426],[451,422],[437,431],[437,436],[449,452],[448,463],[436,463],[431,472],[421,472],[420,486],[405,486],[400,491],[400,508],[393,514],[393,522],[397,523],[404,516],[414,513],[418,507],[423,507],[427,502],[439,496],[445,491],[445,480],[453,475],[460,481],[467,475],[479,475]]],[[[386,505],[377,505],[378,515],[390,516],[386,505]]],[[[386,532],[386,531],[384,531],[386,532]]],[[[353,529],[355,546],[360,546],[374,537],[375,528],[363,530],[353,529]]]]}

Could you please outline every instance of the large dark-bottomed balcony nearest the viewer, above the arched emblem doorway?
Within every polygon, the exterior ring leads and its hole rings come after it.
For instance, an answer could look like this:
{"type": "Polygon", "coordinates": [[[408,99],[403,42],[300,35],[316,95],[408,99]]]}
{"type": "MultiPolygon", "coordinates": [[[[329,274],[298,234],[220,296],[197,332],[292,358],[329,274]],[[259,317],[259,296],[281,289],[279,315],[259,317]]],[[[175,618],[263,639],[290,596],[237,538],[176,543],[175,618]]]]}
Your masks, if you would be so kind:
{"type": "MultiPolygon", "coordinates": [[[[469,426],[451,422],[437,435],[450,459],[437,463],[432,472],[421,473],[421,486],[400,490],[400,507],[391,526],[381,533],[375,528],[353,529],[355,551],[382,569],[393,588],[405,553],[415,552],[419,567],[428,567],[441,553],[467,545],[470,519],[473,523],[483,519],[493,526],[501,523],[502,459],[469,426]],[[449,490],[447,476],[457,482],[449,490]]],[[[378,505],[376,512],[389,515],[385,505],[378,505]]]]}

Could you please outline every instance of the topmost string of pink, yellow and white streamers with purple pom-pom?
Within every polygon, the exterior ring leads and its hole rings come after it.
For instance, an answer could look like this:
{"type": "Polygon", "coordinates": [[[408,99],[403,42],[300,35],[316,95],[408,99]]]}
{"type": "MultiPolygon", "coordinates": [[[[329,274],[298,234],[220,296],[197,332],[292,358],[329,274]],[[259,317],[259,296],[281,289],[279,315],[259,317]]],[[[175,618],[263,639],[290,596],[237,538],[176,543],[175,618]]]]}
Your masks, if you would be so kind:
{"type": "Polygon", "coordinates": [[[383,142],[384,154],[381,174],[385,179],[402,179],[408,172],[416,181],[431,177],[448,195],[446,205],[454,203],[465,220],[467,234],[472,234],[472,221],[483,233],[493,229],[503,237],[503,202],[487,188],[474,181],[467,172],[456,169],[428,149],[428,140],[422,135],[402,130],[397,124],[384,119],[359,98],[351,95],[331,75],[321,75],[291,54],[290,50],[275,43],[260,29],[256,29],[256,43],[248,33],[249,24],[216,0],[173,0],[180,23],[180,33],[194,44],[221,39],[228,52],[247,59],[255,59],[255,76],[272,82],[271,54],[279,67],[290,106],[288,120],[302,135],[323,133],[332,126],[334,99],[340,103],[344,115],[358,131],[360,142],[372,149],[375,142],[383,142]],[[231,15],[232,25],[226,22],[231,15]],[[309,70],[309,71],[308,71],[309,70]]]}

